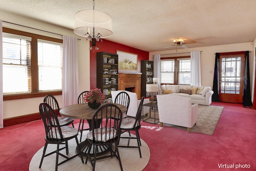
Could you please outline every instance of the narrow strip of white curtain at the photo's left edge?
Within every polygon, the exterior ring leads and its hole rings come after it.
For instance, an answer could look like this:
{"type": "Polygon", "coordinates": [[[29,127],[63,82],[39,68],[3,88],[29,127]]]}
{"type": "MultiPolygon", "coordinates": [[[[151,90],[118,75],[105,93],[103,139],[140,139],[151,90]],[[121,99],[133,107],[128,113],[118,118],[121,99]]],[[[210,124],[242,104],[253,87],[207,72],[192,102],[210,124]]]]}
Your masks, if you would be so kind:
{"type": "Polygon", "coordinates": [[[3,37],[2,37],[2,20],[0,20],[0,128],[4,127],[3,111],[3,37]]]}

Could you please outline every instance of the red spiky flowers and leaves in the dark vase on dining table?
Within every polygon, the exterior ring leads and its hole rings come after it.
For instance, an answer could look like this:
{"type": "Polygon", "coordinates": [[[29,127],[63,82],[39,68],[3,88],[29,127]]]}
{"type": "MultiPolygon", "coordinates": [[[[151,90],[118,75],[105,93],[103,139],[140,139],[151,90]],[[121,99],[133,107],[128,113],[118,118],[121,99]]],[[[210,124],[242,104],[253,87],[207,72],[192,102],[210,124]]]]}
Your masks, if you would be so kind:
{"type": "Polygon", "coordinates": [[[105,100],[105,94],[101,92],[100,89],[91,89],[84,95],[84,102],[85,103],[101,103],[105,100]]]}

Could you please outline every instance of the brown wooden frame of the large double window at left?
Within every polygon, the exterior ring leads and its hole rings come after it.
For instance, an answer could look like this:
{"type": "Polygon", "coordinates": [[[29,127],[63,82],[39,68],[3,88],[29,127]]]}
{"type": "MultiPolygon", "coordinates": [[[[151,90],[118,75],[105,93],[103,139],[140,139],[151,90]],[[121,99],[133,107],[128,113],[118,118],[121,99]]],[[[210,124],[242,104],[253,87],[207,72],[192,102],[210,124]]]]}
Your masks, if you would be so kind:
{"type": "Polygon", "coordinates": [[[14,100],[14,99],[26,99],[34,97],[44,97],[49,93],[52,95],[62,95],[62,90],[58,91],[38,91],[38,56],[37,56],[37,39],[48,40],[51,42],[63,43],[62,39],[52,38],[48,36],[42,36],[39,34],[33,34],[29,32],[23,32],[20,30],[14,30],[10,28],[2,28],[3,32],[10,34],[17,34],[21,36],[31,37],[30,50],[31,50],[31,93],[16,93],[3,95],[3,100],[14,100]]]}

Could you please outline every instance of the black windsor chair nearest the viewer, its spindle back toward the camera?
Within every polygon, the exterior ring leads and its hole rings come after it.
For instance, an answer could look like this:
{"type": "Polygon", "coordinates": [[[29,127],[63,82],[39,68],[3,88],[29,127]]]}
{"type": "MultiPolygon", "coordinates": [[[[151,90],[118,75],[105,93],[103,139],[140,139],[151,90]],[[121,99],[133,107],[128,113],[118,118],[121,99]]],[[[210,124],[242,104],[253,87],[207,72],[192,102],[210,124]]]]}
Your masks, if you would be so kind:
{"type": "Polygon", "coordinates": [[[89,145],[89,151],[94,150],[94,158],[87,154],[86,161],[90,160],[92,164],[92,170],[95,170],[96,160],[105,159],[108,157],[116,157],[119,161],[120,168],[122,169],[122,163],[118,152],[118,141],[120,137],[120,125],[122,121],[122,111],[120,108],[113,104],[107,103],[102,105],[94,113],[92,117],[92,130],[87,134],[89,145]],[[115,144],[115,150],[112,149],[112,144],[115,144]],[[110,154],[98,157],[99,148],[107,146],[110,150],[110,154]]]}

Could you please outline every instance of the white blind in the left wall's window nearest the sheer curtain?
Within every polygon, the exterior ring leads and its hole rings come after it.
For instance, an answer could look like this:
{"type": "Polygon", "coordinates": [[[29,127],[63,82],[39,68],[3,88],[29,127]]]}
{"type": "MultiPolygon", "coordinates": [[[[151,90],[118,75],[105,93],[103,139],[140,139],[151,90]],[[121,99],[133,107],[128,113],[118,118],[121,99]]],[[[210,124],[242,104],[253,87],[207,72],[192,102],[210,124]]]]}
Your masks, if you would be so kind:
{"type": "Polygon", "coordinates": [[[38,91],[62,89],[62,44],[38,42],[38,91]]]}

